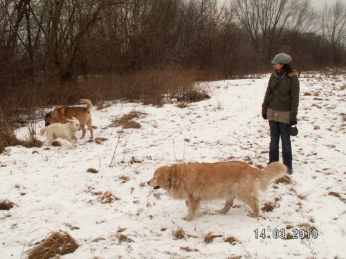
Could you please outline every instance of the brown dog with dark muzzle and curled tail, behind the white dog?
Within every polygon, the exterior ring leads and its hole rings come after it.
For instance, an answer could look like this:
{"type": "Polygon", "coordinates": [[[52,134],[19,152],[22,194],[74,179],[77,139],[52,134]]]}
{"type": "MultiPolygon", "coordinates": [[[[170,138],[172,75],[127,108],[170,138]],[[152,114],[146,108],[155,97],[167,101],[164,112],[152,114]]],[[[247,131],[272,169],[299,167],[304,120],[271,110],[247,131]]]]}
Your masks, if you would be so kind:
{"type": "Polygon", "coordinates": [[[90,139],[93,139],[93,128],[91,126],[91,109],[93,108],[93,104],[89,101],[89,99],[79,99],[80,102],[84,102],[88,104],[86,107],[67,107],[63,106],[60,108],[56,108],[53,112],[49,112],[44,116],[45,126],[49,126],[52,123],[67,123],[67,119],[72,119],[72,117],[76,117],[80,121],[80,128],[82,128],[82,137],[85,136],[85,124],[88,125],[90,131],[90,139]]]}

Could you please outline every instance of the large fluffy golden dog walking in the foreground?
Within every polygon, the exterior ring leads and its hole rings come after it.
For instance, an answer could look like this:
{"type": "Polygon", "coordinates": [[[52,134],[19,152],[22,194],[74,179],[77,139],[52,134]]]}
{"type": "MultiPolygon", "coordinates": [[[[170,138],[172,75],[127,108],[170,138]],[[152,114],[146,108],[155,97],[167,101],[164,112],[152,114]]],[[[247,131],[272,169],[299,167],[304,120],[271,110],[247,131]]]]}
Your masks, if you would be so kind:
{"type": "Polygon", "coordinates": [[[257,218],[259,191],[265,191],[273,178],[286,171],[280,162],[273,162],[264,170],[241,161],[173,164],[156,169],[147,184],[154,189],[161,187],[176,200],[186,200],[188,215],[184,220],[192,220],[200,201],[220,198],[225,198],[226,204],[217,212],[226,213],[237,198],[248,204],[253,218],[257,218]]]}

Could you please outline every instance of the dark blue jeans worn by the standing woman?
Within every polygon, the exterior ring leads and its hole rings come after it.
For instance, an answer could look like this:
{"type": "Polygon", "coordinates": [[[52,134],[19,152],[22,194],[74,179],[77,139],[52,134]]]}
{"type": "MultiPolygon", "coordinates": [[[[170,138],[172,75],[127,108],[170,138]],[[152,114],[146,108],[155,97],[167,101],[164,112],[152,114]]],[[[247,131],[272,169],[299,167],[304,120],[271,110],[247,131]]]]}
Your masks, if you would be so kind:
{"type": "Polygon", "coordinates": [[[279,140],[281,137],[282,144],[282,160],[288,169],[292,170],[292,148],[291,135],[289,135],[290,124],[269,121],[271,128],[271,145],[269,148],[269,164],[279,161],[279,140]]]}

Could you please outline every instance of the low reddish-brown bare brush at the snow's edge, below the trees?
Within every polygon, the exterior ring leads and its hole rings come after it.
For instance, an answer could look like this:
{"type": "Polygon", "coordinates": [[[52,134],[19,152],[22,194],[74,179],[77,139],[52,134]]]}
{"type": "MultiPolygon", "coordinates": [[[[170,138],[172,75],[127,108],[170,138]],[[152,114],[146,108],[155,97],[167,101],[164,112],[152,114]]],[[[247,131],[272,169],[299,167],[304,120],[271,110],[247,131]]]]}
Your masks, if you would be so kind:
{"type": "Polygon", "coordinates": [[[95,104],[126,99],[161,106],[165,95],[181,96],[191,92],[196,80],[197,72],[194,69],[167,66],[126,75],[91,76],[78,82],[77,91],[93,99],[95,104]]]}

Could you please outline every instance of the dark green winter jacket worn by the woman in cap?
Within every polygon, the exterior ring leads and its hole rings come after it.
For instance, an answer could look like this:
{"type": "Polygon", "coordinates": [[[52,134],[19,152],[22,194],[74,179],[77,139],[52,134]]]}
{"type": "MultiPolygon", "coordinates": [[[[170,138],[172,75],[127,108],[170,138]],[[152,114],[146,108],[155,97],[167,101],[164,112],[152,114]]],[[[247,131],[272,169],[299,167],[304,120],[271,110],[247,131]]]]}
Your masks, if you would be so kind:
{"type": "Polygon", "coordinates": [[[275,75],[276,73],[273,73],[269,79],[262,104],[262,114],[266,114],[268,108],[275,111],[290,111],[290,120],[297,121],[299,105],[298,72],[293,70],[288,75],[284,75],[274,91],[277,84],[275,75]]]}

